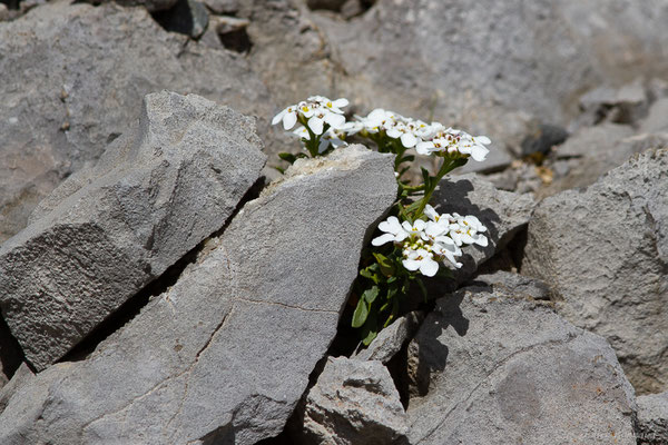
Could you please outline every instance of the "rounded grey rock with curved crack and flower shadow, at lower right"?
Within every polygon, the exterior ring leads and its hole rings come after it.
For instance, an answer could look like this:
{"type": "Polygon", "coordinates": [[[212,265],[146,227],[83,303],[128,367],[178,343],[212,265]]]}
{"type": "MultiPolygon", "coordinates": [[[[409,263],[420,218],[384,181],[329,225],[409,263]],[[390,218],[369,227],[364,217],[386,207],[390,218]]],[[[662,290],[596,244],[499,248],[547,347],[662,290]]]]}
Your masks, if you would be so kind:
{"type": "Polygon", "coordinates": [[[512,280],[439,299],[409,364],[411,444],[636,444],[633,389],[608,343],[512,280]]]}

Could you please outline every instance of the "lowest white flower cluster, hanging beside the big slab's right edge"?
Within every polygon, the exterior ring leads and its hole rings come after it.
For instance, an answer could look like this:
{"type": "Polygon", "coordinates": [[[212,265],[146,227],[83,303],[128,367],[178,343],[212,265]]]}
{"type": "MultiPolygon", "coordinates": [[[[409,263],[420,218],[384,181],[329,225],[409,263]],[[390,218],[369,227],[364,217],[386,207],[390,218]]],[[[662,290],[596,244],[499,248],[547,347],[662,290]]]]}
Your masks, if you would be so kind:
{"type": "Polygon", "coordinates": [[[477,244],[487,246],[488,239],[483,231],[487,228],[474,216],[458,214],[439,215],[434,208],[426,205],[424,215],[429,221],[418,219],[413,225],[400,222],[394,216],[379,225],[384,231],[371,244],[382,246],[393,241],[402,249],[402,264],[407,270],[420,270],[422,275],[433,277],[439,271],[439,261],[448,259],[454,267],[462,267],[455,257],[462,255],[461,246],[477,244]]]}

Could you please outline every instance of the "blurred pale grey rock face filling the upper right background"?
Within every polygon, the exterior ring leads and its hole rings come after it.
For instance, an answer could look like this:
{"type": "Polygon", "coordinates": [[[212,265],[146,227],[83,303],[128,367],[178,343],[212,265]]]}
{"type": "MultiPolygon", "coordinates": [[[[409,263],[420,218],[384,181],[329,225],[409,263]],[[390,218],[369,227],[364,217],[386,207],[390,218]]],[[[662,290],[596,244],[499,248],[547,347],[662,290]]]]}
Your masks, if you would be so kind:
{"type": "MultiPolygon", "coordinates": [[[[351,21],[307,17],[326,36],[321,57],[346,73],[334,81],[316,73],[321,85],[345,91],[364,109],[422,119],[433,113],[510,148],[536,118],[564,127],[582,91],[603,81],[619,88],[668,68],[657,57],[668,39],[668,9],[660,1],[377,1],[351,21]]],[[[285,27],[293,23],[285,20],[285,27]]],[[[303,53],[295,52],[271,56],[265,49],[262,57],[299,67],[303,53]]]]}

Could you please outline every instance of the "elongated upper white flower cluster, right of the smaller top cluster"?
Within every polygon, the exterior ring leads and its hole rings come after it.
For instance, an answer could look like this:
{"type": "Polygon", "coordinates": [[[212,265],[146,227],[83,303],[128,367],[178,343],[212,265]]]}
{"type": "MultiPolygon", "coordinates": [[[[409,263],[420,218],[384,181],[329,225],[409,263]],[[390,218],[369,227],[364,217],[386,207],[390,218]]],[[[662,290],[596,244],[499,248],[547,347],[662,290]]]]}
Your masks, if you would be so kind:
{"type": "Polygon", "coordinates": [[[382,108],[376,108],[366,117],[355,116],[355,118],[357,121],[346,122],[342,130],[348,135],[360,131],[370,135],[384,131],[389,137],[400,139],[405,148],[414,147],[420,155],[459,154],[482,161],[490,151],[485,147],[491,144],[487,136],[473,137],[440,122],[426,123],[382,108]]]}

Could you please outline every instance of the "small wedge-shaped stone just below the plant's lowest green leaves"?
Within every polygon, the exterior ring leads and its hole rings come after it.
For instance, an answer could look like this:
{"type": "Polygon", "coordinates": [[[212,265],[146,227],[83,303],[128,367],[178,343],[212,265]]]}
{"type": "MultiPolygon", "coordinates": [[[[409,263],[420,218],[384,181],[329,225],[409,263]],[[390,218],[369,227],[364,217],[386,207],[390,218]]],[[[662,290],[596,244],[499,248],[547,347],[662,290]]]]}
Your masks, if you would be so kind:
{"type": "Polygon", "coordinates": [[[386,365],[396,353],[415,335],[424,313],[414,310],[400,317],[381,330],[366,349],[353,355],[357,360],[377,360],[386,365]]]}

